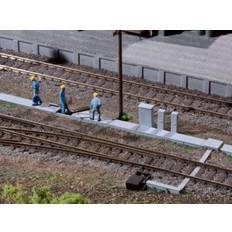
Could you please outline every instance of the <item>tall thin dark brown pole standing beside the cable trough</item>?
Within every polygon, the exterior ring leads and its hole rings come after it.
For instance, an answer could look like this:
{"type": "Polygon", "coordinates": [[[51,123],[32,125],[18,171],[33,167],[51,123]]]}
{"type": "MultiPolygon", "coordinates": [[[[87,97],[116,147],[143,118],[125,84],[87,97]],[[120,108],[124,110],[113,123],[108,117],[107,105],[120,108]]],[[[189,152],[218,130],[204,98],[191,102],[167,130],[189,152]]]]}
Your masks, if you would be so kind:
{"type": "Polygon", "coordinates": [[[119,119],[123,114],[122,31],[118,31],[119,119]]]}

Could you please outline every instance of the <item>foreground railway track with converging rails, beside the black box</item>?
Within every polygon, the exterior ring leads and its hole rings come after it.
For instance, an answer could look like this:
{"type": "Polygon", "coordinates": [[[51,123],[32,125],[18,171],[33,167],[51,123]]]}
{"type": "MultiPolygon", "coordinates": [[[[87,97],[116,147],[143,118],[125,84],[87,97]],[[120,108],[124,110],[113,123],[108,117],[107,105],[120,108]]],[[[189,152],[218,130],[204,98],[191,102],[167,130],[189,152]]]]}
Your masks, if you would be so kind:
{"type": "Polygon", "coordinates": [[[8,115],[0,114],[0,120],[1,145],[61,151],[232,189],[232,169],[222,166],[203,164],[179,155],[129,146],[8,115]],[[193,177],[190,173],[196,166],[201,167],[201,175],[193,177]],[[205,173],[210,178],[205,177],[205,173]]]}

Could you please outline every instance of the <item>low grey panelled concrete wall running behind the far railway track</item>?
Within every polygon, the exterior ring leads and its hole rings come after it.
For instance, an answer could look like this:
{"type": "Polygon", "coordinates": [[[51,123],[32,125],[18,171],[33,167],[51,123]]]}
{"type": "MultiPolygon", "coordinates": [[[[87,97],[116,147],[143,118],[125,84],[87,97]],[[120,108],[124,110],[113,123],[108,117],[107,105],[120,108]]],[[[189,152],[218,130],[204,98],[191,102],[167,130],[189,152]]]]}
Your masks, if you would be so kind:
{"type": "MultiPolygon", "coordinates": [[[[12,38],[0,37],[0,48],[16,52],[24,52],[53,58],[60,54],[69,62],[85,65],[99,70],[117,72],[117,60],[99,57],[93,54],[78,52],[75,49],[56,48],[50,45],[37,44],[30,41],[22,41],[12,38]]],[[[232,85],[209,81],[198,77],[187,76],[180,73],[160,70],[151,67],[143,67],[136,64],[123,64],[124,75],[133,76],[165,85],[174,85],[191,90],[198,90],[207,94],[232,97],[232,85]]]]}

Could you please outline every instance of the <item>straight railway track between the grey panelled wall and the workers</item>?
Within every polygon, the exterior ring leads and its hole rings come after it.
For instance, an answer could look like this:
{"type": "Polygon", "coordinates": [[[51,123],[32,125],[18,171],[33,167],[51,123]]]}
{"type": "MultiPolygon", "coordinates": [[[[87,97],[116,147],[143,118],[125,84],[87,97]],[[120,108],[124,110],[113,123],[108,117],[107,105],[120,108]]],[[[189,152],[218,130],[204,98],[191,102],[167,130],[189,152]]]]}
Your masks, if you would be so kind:
{"type": "MultiPolygon", "coordinates": [[[[118,79],[82,69],[50,64],[34,59],[0,53],[0,70],[21,74],[36,74],[42,79],[67,83],[94,91],[117,95],[118,79]],[[38,72],[38,66],[40,71],[38,72]]],[[[232,101],[178,91],[155,84],[124,80],[124,96],[166,107],[232,119],[232,101]]]]}

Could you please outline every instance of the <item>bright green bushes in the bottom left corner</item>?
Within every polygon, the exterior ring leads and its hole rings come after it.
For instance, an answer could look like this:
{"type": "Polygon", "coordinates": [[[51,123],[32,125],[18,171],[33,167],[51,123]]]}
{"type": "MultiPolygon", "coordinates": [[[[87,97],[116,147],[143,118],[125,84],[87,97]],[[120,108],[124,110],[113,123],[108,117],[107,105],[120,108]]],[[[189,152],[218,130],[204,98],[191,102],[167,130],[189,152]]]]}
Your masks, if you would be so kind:
{"type": "Polygon", "coordinates": [[[47,186],[34,187],[30,195],[22,185],[6,184],[3,187],[2,199],[5,203],[16,204],[89,204],[90,201],[80,194],[66,192],[55,196],[47,186]]]}

